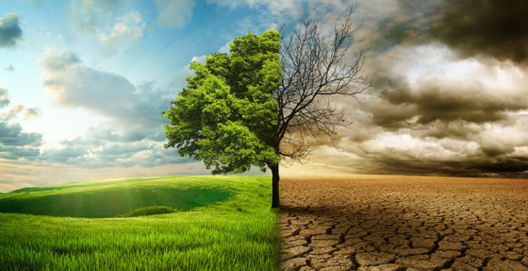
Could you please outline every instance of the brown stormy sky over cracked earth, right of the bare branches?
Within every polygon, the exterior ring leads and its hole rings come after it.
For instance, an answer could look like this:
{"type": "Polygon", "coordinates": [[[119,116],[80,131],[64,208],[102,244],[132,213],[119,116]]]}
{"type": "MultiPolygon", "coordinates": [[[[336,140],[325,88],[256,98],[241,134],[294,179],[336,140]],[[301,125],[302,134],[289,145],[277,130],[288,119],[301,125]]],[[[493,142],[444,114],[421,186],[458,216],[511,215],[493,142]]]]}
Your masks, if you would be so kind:
{"type": "Polygon", "coordinates": [[[527,177],[528,2],[389,2],[358,4],[371,21],[356,48],[382,83],[364,104],[336,99],[354,120],[338,144],[346,156],[326,143],[314,160],[355,173],[527,177]]]}

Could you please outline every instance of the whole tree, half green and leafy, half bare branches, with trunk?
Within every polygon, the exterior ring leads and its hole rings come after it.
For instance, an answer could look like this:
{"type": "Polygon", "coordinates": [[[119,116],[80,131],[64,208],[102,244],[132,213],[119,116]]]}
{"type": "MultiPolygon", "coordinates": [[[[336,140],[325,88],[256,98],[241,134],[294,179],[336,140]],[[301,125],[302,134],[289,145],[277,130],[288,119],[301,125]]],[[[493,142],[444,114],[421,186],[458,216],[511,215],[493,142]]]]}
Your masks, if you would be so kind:
{"type": "Polygon", "coordinates": [[[230,55],[190,63],[195,76],[164,112],[170,121],[164,147],[214,166],[213,174],[269,168],[272,208],[278,208],[279,163],[301,162],[321,135],[336,147],[338,127],[349,123],[331,97],[356,96],[375,85],[363,76],[362,52],[347,59],[358,30],[351,27],[351,14],[333,39],[306,22],[286,41],[276,30],[249,33],[232,41],[230,55]]]}

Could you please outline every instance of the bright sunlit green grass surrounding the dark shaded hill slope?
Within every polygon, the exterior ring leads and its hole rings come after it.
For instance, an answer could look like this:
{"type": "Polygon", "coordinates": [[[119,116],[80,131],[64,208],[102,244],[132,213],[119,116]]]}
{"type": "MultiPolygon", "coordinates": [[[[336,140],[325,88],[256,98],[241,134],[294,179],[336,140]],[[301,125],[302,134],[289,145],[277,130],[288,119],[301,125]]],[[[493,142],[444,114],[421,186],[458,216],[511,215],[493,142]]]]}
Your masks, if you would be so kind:
{"type": "MultiPolygon", "coordinates": [[[[266,208],[271,199],[270,177],[158,177],[65,187],[82,191],[120,183],[222,188],[232,191],[232,196],[186,212],[142,217],[89,219],[0,213],[0,270],[278,268],[276,213],[266,208]]],[[[28,195],[58,188],[41,187],[28,195]]],[[[10,194],[23,195],[0,197],[10,194]]]]}

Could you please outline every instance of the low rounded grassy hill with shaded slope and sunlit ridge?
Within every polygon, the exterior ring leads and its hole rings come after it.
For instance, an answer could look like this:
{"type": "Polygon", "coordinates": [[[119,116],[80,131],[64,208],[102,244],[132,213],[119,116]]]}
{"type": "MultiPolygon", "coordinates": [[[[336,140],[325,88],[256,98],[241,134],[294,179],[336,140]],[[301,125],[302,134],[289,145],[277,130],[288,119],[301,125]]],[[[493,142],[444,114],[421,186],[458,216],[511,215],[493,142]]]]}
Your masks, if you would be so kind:
{"type": "Polygon", "coordinates": [[[222,202],[230,186],[189,182],[188,177],[156,177],[22,188],[0,196],[1,213],[56,217],[115,217],[146,206],[190,210],[222,202]]]}

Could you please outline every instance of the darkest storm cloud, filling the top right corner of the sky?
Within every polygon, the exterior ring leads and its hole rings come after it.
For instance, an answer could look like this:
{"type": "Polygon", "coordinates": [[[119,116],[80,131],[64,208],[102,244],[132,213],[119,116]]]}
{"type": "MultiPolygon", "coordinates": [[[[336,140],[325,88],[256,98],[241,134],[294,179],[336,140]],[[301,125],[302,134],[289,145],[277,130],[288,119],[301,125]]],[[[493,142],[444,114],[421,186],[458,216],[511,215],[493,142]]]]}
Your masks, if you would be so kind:
{"type": "Polygon", "coordinates": [[[448,1],[430,36],[464,56],[484,54],[520,63],[528,60],[528,1],[448,1]]]}

